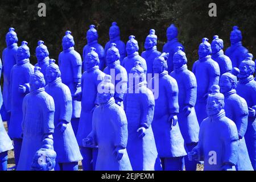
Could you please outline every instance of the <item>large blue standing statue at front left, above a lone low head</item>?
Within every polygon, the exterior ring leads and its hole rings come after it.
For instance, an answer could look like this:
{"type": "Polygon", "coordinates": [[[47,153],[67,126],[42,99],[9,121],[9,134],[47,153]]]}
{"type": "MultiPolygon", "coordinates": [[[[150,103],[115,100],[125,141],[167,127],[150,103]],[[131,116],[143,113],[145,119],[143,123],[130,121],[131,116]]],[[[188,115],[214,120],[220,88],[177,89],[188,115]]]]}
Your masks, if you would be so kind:
{"type": "Polygon", "coordinates": [[[43,140],[52,139],[55,106],[53,98],[44,91],[45,84],[43,73],[39,67],[35,67],[30,76],[30,93],[24,97],[22,105],[23,142],[18,171],[30,170],[33,156],[42,146],[43,140]]]}

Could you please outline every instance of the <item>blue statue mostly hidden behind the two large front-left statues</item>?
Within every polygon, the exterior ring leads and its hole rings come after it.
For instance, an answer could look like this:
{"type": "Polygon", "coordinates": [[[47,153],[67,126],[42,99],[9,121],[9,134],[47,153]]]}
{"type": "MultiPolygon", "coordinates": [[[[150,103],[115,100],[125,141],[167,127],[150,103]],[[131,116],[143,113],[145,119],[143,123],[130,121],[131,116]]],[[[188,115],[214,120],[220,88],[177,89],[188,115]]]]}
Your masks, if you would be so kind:
{"type": "MultiPolygon", "coordinates": [[[[40,67],[41,72],[44,77],[46,76],[46,67],[49,65],[49,51],[47,47],[44,45],[43,40],[38,41],[38,47],[36,47],[36,58],[38,59],[38,63],[35,64],[35,67],[40,67]]],[[[47,85],[46,80],[46,85],[47,85]]]]}

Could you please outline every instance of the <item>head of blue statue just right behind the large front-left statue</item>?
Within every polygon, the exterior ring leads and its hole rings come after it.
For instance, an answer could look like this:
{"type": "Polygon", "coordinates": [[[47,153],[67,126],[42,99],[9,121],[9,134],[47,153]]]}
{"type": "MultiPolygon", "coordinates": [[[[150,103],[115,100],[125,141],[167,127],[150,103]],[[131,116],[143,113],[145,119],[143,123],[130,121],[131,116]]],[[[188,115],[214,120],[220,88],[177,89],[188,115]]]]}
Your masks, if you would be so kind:
{"type": "Polygon", "coordinates": [[[46,80],[48,83],[55,81],[57,78],[60,78],[60,68],[57,64],[55,64],[54,59],[49,60],[49,65],[46,68],[46,80]]]}

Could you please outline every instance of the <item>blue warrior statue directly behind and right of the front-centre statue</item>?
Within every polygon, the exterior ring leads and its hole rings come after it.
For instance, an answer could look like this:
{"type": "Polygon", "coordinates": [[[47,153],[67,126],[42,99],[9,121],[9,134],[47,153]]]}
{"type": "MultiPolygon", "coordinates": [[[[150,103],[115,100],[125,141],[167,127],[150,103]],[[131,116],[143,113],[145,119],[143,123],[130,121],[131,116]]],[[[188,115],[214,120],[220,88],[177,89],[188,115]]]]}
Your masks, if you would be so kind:
{"type": "Polygon", "coordinates": [[[133,170],[162,170],[151,127],[155,100],[144,84],[144,70],[139,64],[139,61],[135,62],[135,67],[130,71],[134,77],[133,86],[123,97],[128,122],[127,152],[133,170]]]}

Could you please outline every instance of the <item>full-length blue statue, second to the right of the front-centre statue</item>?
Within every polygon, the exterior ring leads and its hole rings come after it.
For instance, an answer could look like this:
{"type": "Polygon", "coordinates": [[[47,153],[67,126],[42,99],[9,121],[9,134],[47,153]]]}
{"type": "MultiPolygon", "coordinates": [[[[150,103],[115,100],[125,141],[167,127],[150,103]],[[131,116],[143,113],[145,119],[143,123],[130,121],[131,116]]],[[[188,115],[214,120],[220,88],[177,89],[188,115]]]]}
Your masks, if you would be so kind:
{"type": "Polygon", "coordinates": [[[155,97],[152,130],[163,169],[183,171],[184,156],[187,152],[177,122],[179,89],[176,80],[168,75],[168,55],[169,53],[162,53],[153,63],[154,77],[149,82],[155,97]]]}

